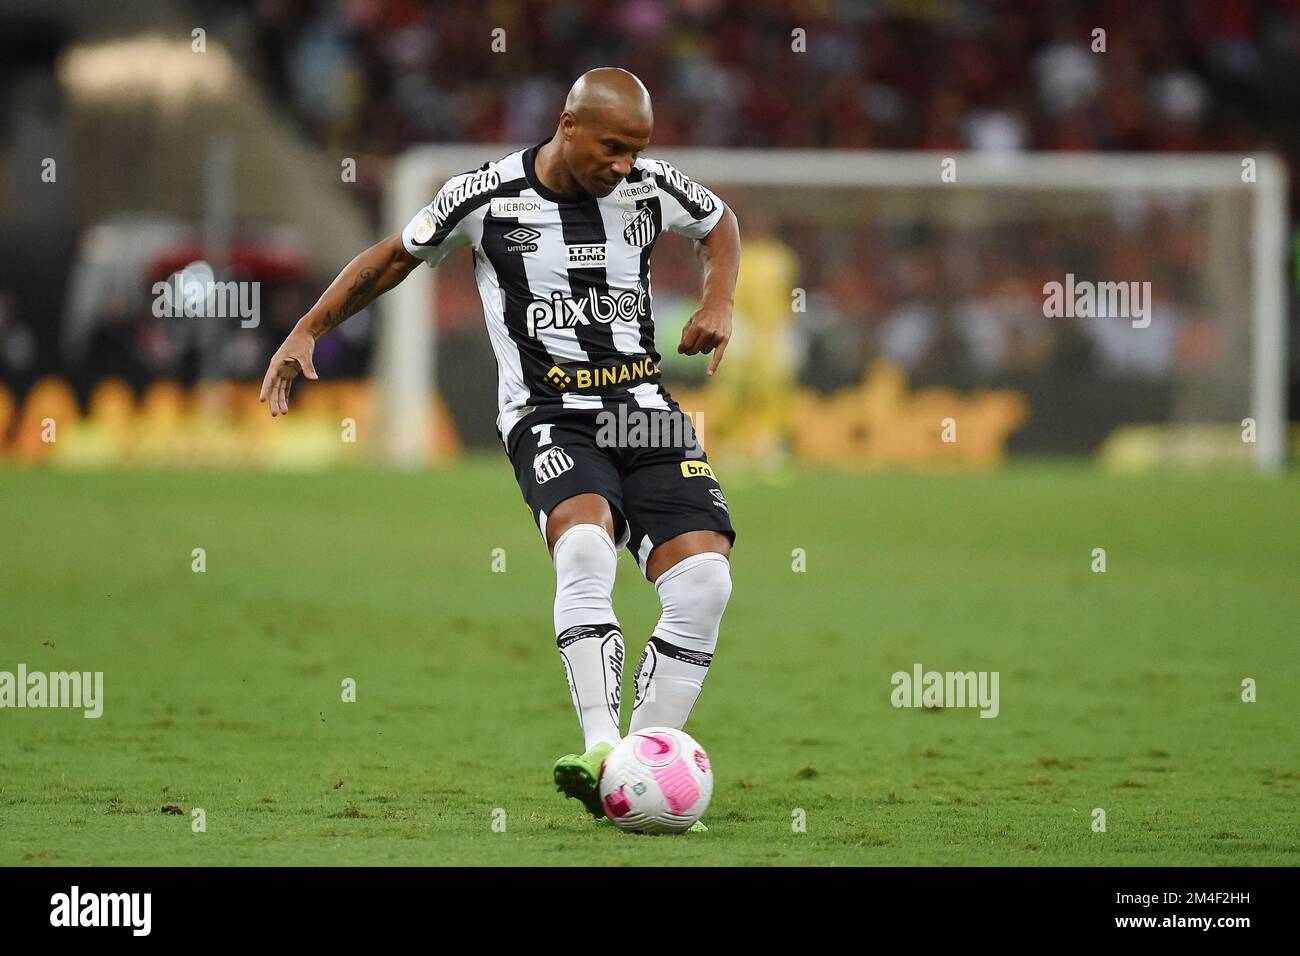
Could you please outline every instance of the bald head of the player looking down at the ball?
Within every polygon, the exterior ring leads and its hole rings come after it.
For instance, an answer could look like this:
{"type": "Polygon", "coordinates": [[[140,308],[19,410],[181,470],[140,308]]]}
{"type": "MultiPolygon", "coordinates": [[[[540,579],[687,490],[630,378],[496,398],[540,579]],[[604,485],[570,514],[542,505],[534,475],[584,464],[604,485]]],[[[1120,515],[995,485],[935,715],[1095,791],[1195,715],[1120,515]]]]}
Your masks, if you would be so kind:
{"type": "MultiPolygon", "coordinates": [[[[594,196],[607,196],[628,177],[650,144],[650,92],[627,70],[588,70],[569,90],[555,131],[555,178],[594,196]]],[[[545,161],[551,163],[547,155],[545,161]]]]}

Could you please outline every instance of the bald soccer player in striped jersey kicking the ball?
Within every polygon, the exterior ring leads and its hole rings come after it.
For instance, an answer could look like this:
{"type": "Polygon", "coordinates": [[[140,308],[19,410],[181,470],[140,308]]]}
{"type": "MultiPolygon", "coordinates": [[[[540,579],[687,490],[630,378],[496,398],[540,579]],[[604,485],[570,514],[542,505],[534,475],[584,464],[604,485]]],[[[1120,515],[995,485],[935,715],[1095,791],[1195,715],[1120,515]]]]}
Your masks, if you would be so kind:
{"type": "Polygon", "coordinates": [[[597,818],[601,769],[620,739],[619,549],[663,606],[637,665],[634,732],[686,723],[731,596],[736,540],[690,419],[660,384],[650,254],[664,230],[696,239],[703,297],[677,351],[711,352],[712,375],[731,339],[740,229],[710,190],[641,156],[653,125],[633,74],[585,73],[550,139],[452,177],[400,234],[344,267],[272,358],[260,399],[273,416],[287,412],[294,377],[317,377],[317,338],[421,261],[473,250],[497,355],[497,432],[555,564],[555,640],[582,727],[585,752],[555,762],[555,783],[597,818]]]}

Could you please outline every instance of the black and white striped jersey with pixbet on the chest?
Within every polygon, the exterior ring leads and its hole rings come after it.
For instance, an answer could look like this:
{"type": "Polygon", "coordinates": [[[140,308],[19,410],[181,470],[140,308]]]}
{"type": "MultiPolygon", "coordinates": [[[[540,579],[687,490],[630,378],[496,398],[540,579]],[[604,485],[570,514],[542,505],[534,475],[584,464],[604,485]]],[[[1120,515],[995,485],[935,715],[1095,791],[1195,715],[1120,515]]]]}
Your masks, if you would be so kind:
{"type": "Polygon", "coordinates": [[[655,351],[650,252],[664,230],[702,239],[724,209],[653,159],[638,159],[602,199],[562,196],[537,178],[542,146],[452,177],[402,233],[430,267],[459,246],[473,248],[503,442],[536,406],[671,407],[655,351]]]}

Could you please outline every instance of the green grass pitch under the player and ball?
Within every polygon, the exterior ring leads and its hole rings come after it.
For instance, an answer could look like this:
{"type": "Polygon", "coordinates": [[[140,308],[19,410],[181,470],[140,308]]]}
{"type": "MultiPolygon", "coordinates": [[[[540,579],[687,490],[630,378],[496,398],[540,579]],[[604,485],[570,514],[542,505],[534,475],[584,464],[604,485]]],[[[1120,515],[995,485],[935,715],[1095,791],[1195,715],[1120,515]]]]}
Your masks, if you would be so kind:
{"type": "MultiPolygon", "coordinates": [[[[0,472],[0,670],[107,697],[0,710],[0,864],[1300,864],[1296,475],[722,477],[712,830],[637,838],[550,783],[578,736],[502,457],[0,472]],[[1001,714],[893,709],[914,662],[1000,671],[1001,714]]],[[[627,554],[615,600],[634,659],[627,554]]]]}

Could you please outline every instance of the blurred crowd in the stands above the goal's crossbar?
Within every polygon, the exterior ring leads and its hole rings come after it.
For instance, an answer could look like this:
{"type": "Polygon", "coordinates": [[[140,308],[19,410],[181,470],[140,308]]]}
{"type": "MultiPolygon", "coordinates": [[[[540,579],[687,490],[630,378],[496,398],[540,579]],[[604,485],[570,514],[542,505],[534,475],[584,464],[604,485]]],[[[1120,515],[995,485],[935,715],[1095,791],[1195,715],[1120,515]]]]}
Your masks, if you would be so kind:
{"type": "Polygon", "coordinates": [[[1238,150],[1300,105],[1300,0],[257,0],[246,17],[272,95],[321,142],[385,153],[537,140],[573,78],[611,64],[651,90],[660,146],[1238,150]]]}

